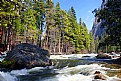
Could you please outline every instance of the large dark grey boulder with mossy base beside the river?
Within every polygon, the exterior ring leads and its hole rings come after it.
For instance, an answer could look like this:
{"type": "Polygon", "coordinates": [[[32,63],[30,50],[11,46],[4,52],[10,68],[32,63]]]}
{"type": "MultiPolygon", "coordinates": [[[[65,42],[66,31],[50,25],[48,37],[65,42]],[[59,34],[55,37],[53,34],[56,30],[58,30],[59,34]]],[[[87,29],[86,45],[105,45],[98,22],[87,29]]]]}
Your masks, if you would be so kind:
{"type": "Polygon", "coordinates": [[[51,65],[47,50],[27,43],[19,44],[7,53],[1,65],[10,69],[32,68],[51,65]]]}

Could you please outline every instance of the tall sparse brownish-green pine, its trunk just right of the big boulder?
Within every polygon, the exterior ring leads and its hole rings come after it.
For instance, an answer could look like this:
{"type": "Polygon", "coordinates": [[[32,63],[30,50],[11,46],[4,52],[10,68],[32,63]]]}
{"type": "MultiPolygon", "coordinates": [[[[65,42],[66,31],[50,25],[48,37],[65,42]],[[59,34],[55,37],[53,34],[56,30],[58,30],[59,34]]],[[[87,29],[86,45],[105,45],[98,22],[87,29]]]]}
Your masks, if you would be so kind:
{"type": "Polygon", "coordinates": [[[44,39],[44,48],[49,49],[50,52],[55,52],[55,34],[54,33],[54,3],[50,0],[46,1],[46,36],[44,39]]]}

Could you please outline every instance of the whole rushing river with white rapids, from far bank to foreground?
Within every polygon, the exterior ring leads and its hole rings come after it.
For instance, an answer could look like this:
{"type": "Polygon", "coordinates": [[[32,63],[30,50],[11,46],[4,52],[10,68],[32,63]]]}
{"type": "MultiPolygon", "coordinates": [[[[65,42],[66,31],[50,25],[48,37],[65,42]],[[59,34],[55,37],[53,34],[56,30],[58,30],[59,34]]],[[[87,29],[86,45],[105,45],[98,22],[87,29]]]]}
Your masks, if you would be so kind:
{"type": "Polygon", "coordinates": [[[0,81],[121,81],[121,65],[95,56],[51,55],[53,66],[12,71],[0,68],[0,81]],[[107,79],[95,80],[95,71],[100,71],[107,79]]]}

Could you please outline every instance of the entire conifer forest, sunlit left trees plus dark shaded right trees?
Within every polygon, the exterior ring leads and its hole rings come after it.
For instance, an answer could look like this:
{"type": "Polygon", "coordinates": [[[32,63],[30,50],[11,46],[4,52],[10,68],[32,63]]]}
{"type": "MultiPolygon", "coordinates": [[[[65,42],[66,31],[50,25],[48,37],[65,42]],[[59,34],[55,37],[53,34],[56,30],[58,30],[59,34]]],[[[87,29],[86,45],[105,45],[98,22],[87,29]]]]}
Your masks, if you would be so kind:
{"type": "Polygon", "coordinates": [[[73,6],[67,11],[52,0],[0,0],[0,51],[30,43],[50,54],[119,52],[121,0],[106,1],[92,11],[105,29],[95,38],[73,6]]]}

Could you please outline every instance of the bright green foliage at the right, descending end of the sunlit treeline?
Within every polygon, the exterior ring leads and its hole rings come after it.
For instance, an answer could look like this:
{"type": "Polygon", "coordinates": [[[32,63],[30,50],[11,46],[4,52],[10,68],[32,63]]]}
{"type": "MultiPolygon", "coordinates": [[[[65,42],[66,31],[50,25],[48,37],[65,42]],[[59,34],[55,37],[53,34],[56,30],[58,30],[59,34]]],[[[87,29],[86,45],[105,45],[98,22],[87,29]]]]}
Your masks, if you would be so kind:
{"type": "Polygon", "coordinates": [[[90,39],[86,25],[81,22],[78,24],[76,21],[75,10],[73,7],[69,12],[62,11],[63,27],[65,32],[65,39],[73,44],[75,53],[79,53],[82,50],[90,49],[90,39]]]}

